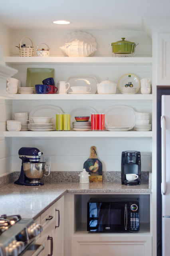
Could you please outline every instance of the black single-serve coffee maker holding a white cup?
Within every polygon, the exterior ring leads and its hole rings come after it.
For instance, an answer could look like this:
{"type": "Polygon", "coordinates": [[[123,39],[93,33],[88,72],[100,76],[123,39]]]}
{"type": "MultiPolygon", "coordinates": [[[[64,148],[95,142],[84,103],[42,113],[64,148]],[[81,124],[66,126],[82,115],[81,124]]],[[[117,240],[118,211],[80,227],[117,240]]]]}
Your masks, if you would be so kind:
{"type": "Polygon", "coordinates": [[[141,159],[139,151],[123,151],[121,158],[121,181],[125,185],[137,185],[140,184],[141,177],[141,159]],[[136,180],[129,181],[126,179],[126,174],[137,174],[136,180]]]}

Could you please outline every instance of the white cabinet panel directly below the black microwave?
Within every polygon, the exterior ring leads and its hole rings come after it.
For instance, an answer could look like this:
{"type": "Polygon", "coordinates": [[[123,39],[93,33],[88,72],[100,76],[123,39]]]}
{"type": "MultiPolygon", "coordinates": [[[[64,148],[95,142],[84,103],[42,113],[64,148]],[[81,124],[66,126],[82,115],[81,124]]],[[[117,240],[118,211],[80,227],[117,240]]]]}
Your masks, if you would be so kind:
{"type": "Polygon", "coordinates": [[[72,256],[152,256],[152,237],[72,236],[72,256]],[[122,240],[122,242],[121,242],[122,240]]]}

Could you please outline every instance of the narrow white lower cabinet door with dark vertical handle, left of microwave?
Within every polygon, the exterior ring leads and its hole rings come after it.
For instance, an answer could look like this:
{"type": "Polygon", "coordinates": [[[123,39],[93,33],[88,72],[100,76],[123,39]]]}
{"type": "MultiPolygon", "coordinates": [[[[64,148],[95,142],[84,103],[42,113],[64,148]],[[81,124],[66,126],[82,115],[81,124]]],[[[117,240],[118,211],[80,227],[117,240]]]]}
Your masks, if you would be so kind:
{"type": "Polygon", "coordinates": [[[55,256],[64,255],[64,196],[55,203],[55,256]]]}

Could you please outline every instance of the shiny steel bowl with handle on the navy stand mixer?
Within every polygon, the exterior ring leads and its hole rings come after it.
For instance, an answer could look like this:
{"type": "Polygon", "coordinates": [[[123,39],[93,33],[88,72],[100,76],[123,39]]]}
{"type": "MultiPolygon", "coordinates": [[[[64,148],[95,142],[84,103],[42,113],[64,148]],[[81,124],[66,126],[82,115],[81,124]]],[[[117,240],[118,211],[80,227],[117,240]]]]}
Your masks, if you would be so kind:
{"type": "Polygon", "coordinates": [[[51,170],[49,164],[45,162],[32,163],[25,162],[23,163],[24,174],[30,183],[38,183],[44,176],[49,176],[51,170]],[[45,166],[48,167],[48,174],[45,175],[45,166]]]}

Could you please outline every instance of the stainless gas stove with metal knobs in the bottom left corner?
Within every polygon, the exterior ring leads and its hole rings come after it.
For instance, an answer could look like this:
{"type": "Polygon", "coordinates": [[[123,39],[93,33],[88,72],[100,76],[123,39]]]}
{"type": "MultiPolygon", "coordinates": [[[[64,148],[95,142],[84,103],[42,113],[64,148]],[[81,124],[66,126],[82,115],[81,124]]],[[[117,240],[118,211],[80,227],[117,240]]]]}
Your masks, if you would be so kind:
{"type": "Polygon", "coordinates": [[[0,216],[0,256],[18,256],[34,243],[42,232],[42,225],[33,219],[16,216],[0,216]]]}

